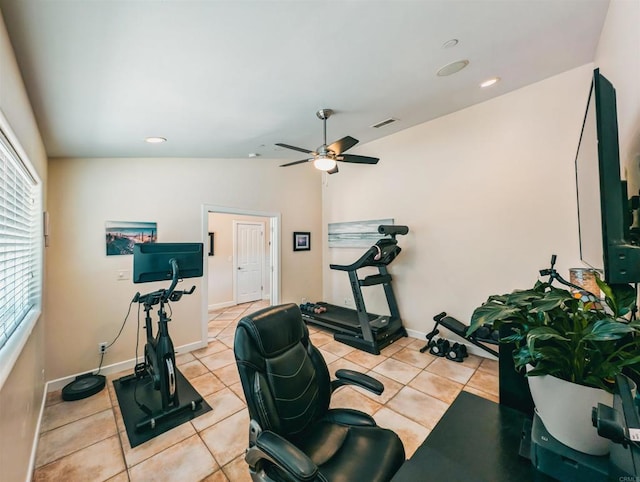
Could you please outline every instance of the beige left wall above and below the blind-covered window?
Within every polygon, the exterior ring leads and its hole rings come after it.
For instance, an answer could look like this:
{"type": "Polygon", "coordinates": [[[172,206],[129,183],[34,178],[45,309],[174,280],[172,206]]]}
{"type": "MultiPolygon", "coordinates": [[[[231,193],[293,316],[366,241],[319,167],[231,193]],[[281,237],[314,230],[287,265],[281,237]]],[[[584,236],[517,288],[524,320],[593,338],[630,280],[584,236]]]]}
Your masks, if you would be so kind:
{"type": "MultiPolygon", "coordinates": [[[[1,15],[0,111],[38,172],[43,195],[46,194],[46,153],[1,15]]],[[[0,480],[3,481],[26,480],[30,475],[44,392],[44,313],[0,387],[0,480]]]]}

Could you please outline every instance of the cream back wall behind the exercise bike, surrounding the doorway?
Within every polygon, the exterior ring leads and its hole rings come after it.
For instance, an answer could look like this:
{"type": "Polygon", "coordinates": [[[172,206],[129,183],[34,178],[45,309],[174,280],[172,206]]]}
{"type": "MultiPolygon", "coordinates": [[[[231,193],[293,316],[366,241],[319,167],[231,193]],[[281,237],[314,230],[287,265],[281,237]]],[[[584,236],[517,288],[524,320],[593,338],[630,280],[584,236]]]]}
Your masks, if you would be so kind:
{"type": "MultiPolygon", "coordinates": [[[[293,231],[320,232],[320,175],[314,169],[279,169],[277,160],[52,159],[49,165],[51,237],[46,304],[49,379],[94,369],[97,346],[118,332],[129,301],[162,284],[118,281],[131,256],[105,255],[105,221],[155,221],[159,241],[207,241],[203,205],[281,213],[281,301],[319,296],[321,251],[295,256],[293,231]],[[73,343],[71,343],[73,339],[73,343]]],[[[176,347],[201,341],[207,292],[173,306],[170,333],[176,347]]],[[[135,354],[135,310],[105,364],[135,354]]],[[[205,330],[206,332],[206,330],[205,330]]]]}

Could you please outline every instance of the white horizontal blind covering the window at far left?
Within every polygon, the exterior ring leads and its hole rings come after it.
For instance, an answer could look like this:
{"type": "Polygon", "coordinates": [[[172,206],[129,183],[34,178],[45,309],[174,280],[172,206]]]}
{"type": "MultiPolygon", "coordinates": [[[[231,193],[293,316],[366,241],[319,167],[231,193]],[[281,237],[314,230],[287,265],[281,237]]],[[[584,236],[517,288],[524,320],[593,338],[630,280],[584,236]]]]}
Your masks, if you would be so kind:
{"type": "Polygon", "coordinates": [[[0,351],[40,303],[38,183],[0,131],[0,351]]]}

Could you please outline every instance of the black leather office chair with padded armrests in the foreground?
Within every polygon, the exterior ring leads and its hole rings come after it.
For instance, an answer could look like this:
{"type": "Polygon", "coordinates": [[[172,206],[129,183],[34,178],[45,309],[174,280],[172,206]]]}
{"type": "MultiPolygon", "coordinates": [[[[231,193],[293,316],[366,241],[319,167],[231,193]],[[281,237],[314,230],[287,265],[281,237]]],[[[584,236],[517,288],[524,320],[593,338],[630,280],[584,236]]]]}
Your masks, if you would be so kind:
{"type": "Polygon", "coordinates": [[[404,463],[394,432],[358,410],[329,409],[340,386],[378,395],[384,387],[352,370],[331,381],[297,305],[242,318],[234,352],[251,417],[245,460],[254,481],[382,482],[404,463]]]}

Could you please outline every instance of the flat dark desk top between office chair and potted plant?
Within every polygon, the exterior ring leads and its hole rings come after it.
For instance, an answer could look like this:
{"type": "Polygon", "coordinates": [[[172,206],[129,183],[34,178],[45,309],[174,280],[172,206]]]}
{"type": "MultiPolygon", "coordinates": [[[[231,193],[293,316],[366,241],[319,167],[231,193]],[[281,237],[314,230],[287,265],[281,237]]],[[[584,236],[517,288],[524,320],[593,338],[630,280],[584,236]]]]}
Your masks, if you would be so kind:
{"type": "Polygon", "coordinates": [[[461,392],[393,482],[539,481],[518,455],[526,415],[461,392]]]}

